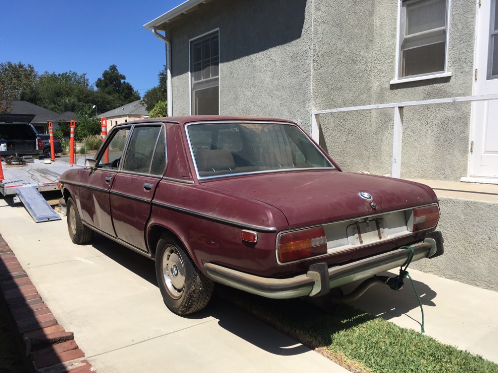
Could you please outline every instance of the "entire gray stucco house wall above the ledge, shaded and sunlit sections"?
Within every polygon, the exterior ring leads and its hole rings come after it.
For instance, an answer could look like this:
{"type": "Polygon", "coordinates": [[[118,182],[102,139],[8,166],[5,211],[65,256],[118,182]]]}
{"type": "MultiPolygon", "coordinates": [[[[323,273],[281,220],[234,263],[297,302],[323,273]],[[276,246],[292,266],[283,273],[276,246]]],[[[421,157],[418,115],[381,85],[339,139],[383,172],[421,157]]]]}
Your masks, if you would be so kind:
{"type": "MultiPolygon", "coordinates": [[[[451,1],[449,78],[390,84],[393,0],[216,0],[169,24],[173,114],[190,113],[189,39],[219,28],[220,114],[277,116],[472,94],[475,4],[451,1]]],[[[393,110],[321,115],[321,145],[347,171],[391,172],[393,110]]],[[[470,104],[405,108],[401,177],[467,176],[470,104]]]]}

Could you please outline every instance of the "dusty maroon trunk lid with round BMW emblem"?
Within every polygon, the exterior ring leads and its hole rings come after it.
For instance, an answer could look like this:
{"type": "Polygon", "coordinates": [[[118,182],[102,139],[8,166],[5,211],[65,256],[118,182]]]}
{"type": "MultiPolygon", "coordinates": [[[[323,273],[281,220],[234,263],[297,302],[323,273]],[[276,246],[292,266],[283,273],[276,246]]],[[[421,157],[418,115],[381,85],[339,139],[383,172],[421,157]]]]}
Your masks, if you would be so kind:
{"type": "Polygon", "coordinates": [[[339,171],[280,172],[203,184],[278,208],[290,229],[434,202],[430,189],[421,184],[339,171]]]}

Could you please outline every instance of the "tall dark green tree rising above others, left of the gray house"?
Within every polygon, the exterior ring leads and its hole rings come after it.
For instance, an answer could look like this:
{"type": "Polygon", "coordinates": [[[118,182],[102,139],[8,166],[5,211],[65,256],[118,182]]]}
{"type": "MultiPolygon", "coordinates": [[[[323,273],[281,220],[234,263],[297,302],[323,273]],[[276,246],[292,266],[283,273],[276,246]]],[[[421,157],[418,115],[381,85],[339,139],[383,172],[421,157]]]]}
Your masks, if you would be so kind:
{"type": "Polygon", "coordinates": [[[119,100],[117,106],[140,99],[138,92],[126,82],[126,77],[118,71],[116,65],[109,66],[109,70],[102,73],[102,78],[97,79],[95,87],[98,91],[116,97],[119,100]]]}

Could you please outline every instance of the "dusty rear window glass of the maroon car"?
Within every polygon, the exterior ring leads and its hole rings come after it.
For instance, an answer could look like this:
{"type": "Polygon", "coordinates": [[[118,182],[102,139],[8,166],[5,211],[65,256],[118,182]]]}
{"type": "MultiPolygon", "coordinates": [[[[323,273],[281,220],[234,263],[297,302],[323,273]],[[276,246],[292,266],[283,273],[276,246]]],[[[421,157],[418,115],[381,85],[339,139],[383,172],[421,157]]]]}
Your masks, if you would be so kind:
{"type": "Polygon", "coordinates": [[[187,126],[198,176],[334,168],[309,138],[286,123],[199,123],[187,126]]]}

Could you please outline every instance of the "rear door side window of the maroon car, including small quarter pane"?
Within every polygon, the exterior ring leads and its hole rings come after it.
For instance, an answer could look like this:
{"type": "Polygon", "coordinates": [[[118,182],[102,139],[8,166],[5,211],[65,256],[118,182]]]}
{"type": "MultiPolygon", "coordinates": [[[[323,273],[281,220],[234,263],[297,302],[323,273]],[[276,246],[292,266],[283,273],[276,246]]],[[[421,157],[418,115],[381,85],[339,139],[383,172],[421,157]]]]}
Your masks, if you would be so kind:
{"type": "Polygon", "coordinates": [[[135,127],[123,163],[124,171],[150,174],[152,158],[162,126],[135,127]]]}

